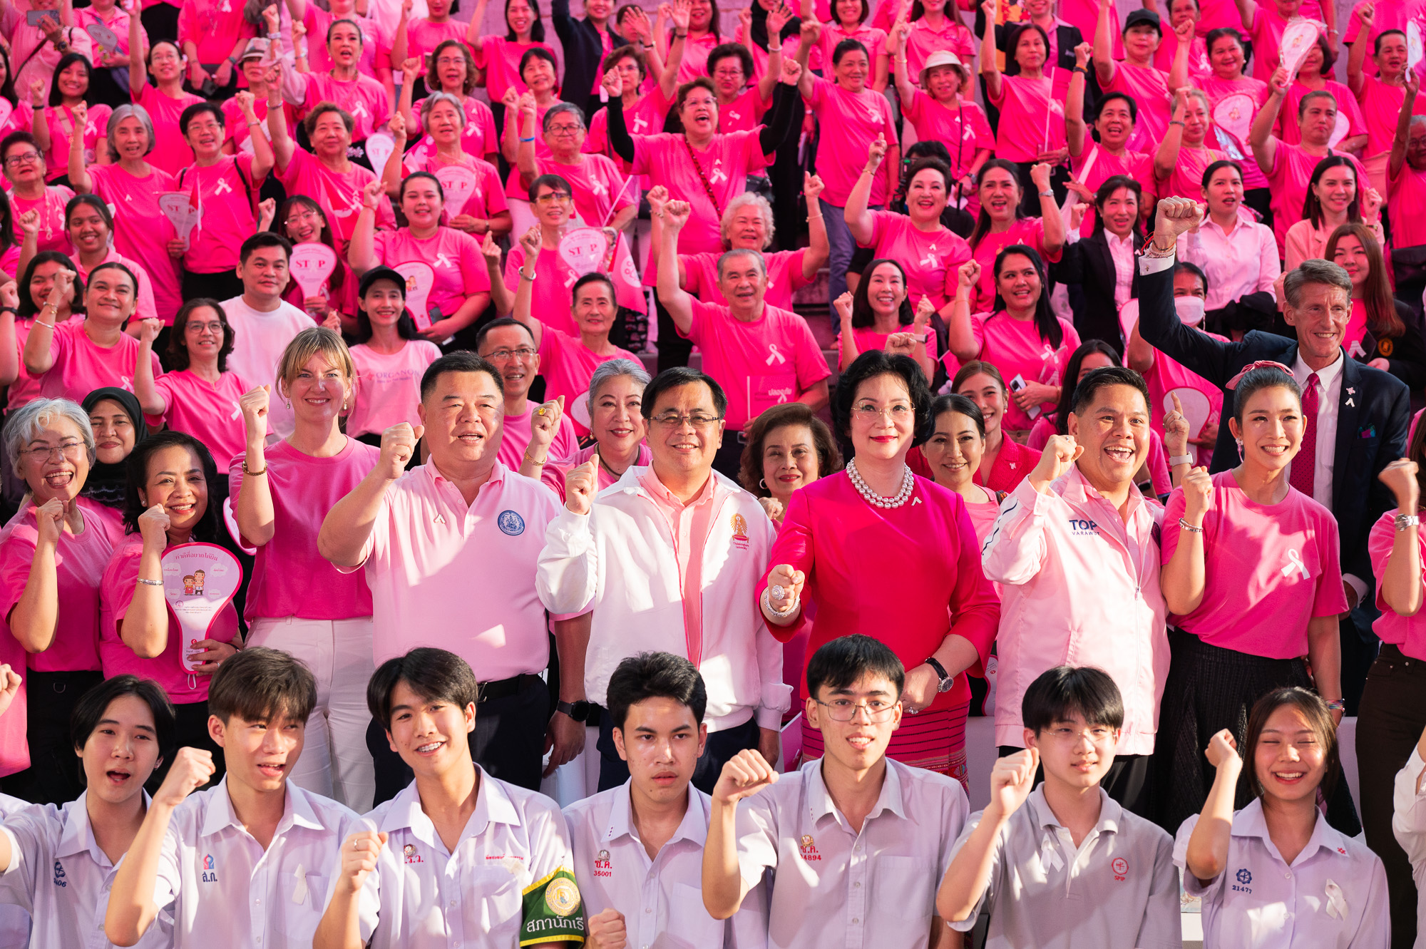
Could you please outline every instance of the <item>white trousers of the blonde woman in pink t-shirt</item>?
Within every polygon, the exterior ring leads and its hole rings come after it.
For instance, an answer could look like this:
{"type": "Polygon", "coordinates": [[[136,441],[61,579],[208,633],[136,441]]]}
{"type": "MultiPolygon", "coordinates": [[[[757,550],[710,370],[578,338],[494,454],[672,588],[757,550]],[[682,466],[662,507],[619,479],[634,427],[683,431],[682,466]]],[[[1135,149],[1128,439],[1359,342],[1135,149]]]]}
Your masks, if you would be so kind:
{"type": "Polygon", "coordinates": [[[366,751],[366,683],[375,671],[372,620],[260,617],[248,645],[267,645],[307,663],[317,677],[317,707],[307,720],[302,757],[291,778],[304,791],[345,804],[356,814],[372,808],[376,775],[366,751]]]}

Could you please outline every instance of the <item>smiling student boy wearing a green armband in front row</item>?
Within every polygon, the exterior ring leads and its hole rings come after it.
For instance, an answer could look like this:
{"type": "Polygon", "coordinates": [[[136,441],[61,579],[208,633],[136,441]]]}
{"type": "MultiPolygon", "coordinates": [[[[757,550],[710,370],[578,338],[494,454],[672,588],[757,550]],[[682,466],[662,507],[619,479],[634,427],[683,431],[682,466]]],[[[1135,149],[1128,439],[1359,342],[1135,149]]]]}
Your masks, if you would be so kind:
{"type": "Polygon", "coordinates": [[[585,942],[559,805],[471,759],[479,684],[419,647],[376,667],[371,715],[416,779],[342,842],[314,949],[539,949],[585,942]]]}

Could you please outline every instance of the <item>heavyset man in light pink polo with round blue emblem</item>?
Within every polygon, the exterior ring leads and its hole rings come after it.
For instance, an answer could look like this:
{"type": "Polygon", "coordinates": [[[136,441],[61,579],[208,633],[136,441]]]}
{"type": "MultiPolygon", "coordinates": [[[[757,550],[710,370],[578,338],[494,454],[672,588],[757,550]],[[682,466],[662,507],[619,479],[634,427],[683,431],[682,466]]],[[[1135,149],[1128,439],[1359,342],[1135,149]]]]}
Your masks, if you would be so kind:
{"type": "MultiPolygon", "coordinates": [[[[421,379],[421,425],[381,436],[371,473],[322,522],[317,546],[338,570],[366,569],[372,651],[381,663],[418,645],[446,648],[481,680],[481,714],[471,754],[486,772],[539,789],[549,771],[583,748],[585,730],[549,715],[545,607],[535,561],[559,499],[498,460],[503,435],[501,373],[472,352],[436,359],[421,379]],[[429,460],[406,462],[425,436],[429,460]]],[[[560,653],[576,621],[555,617],[560,653]]],[[[376,761],[376,802],[411,782],[382,722],[366,745],[376,761]]]]}

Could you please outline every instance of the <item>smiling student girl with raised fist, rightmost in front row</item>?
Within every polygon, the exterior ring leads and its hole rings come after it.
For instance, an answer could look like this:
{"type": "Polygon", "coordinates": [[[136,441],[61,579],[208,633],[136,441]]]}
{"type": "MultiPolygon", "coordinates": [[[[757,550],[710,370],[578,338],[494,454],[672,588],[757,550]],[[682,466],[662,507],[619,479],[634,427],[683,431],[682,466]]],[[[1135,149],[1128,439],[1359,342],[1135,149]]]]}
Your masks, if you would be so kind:
{"type": "Polygon", "coordinates": [[[1226,728],[1205,754],[1218,777],[1174,842],[1184,889],[1204,899],[1204,949],[1386,949],[1382,861],[1318,808],[1342,779],[1322,700],[1275,688],[1253,702],[1242,757],[1226,728]],[[1235,812],[1239,779],[1258,797],[1235,812]]]}

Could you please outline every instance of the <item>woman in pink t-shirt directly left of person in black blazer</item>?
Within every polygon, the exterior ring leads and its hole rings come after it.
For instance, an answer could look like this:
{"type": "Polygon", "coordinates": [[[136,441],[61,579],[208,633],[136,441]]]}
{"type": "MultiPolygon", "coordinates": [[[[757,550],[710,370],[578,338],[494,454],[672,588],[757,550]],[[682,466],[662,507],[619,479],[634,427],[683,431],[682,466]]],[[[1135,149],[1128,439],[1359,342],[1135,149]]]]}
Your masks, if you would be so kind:
{"type": "MultiPolygon", "coordinates": [[[[1050,165],[1038,164],[1030,172],[1034,187],[1050,191],[1050,165]]],[[[991,158],[981,167],[975,182],[981,209],[971,231],[971,255],[980,262],[980,282],[971,295],[971,312],[990,309],[995,299],[992,264],[1001,251],[1012,244],[1025,244],[1051,264],[1060,262],[1065,242],[1064,218],[1052,194],[1040,195],[1042,217],[1027,218],[1020,212],[1021,190],[1018,168],[1004,158],[991,158]]]]}

